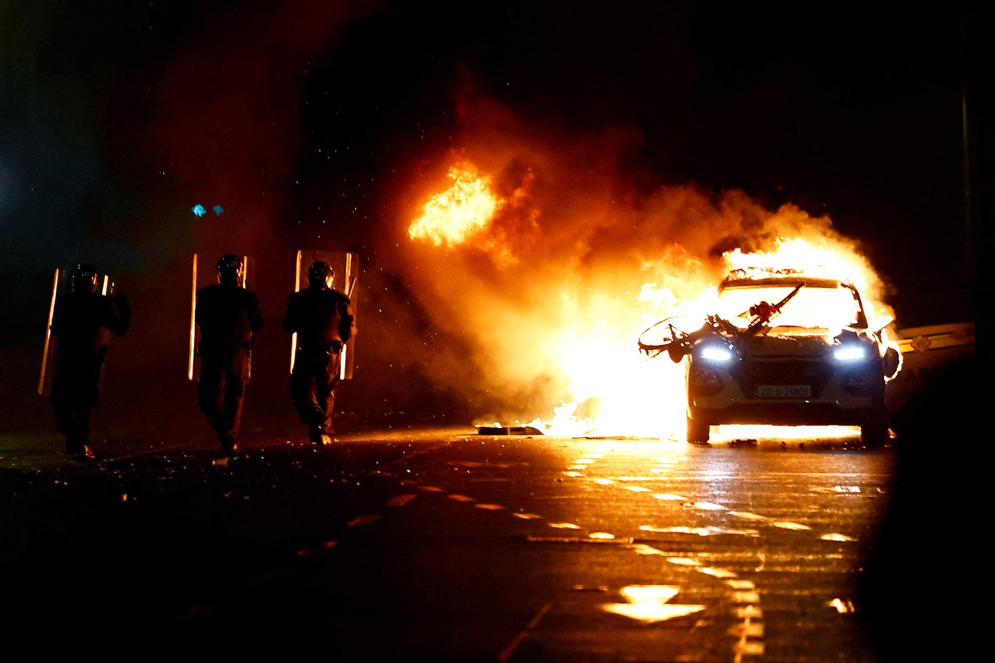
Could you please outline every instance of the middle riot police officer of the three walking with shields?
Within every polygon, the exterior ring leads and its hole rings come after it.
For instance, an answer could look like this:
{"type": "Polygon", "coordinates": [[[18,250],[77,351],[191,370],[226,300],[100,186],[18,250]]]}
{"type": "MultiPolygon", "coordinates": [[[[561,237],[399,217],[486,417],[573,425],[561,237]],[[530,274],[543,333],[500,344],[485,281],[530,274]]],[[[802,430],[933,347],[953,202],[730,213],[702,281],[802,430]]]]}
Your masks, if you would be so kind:
{"type": "Polygon", "coordinates": [[[239,422],[249,381],[253,334],[263,328],[255,294],[242,287],[242,258],[226,253],[217,263],[218,284],[197,291],[200,326],[198,401],[221,448],[238,448],[239,422]]]}

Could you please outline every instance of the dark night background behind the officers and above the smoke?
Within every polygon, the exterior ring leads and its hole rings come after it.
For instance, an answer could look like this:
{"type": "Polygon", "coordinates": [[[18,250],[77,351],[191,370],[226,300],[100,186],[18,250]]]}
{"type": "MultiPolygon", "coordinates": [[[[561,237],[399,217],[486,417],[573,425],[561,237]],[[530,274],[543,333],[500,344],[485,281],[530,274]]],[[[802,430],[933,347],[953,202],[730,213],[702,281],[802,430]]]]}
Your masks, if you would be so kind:
{"type": "MultiPolygon", "coordinates": [[[[636,127],[626,168],[647,191],[694,181],[829,214],[899,311],[964,287],[961,85],[978,78],[990,18],[970,4],[7,0],[0,379],[18,406],[0,425],[47,413],[31,395],[52,269],[89,260],[136,316],[102,410],[200,430],[184,376],[194,250],[259,260],[270,325],[250,428],[292,418],[278,318],[300,248],[364,259],[363,380],[340,392],[345,421],[472,416],[479,404],[425,380],[431,343],[400,341],[414,327],[459,346],[431,333],[375,242],[406,173],[459,149],[467,87],[550,131],[636,127]],[[198,219],[198,203],[225,212],[198,219]]],[[[984,119],[969,107],[972,137],[984,119]]]]}

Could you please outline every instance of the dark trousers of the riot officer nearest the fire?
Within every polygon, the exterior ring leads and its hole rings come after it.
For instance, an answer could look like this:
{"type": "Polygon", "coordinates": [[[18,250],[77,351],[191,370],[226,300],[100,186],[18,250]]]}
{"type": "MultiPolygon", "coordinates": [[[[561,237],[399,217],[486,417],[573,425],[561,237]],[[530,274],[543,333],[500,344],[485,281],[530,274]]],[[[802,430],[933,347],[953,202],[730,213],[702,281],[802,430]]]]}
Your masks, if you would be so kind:
{"type": "Polygon", "coordinates": [[[331,434],[331,414],[335,406],[341,353],[324,348],[298,350],[291,375],[291,398],[298,409],[300,422],[319,427],[331,434]]]}

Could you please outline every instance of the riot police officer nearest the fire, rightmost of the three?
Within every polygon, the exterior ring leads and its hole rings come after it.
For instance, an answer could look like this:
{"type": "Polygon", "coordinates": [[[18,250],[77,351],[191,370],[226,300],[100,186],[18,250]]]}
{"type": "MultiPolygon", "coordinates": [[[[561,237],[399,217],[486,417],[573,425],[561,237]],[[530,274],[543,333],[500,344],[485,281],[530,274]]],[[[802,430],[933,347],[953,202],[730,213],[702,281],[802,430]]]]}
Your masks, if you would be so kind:
{"type": "Polygon", "coordinates": [[[284,317],[284,329],[298,335],[291,398],[301,423],[307,425],[307,438],[315,444],[331,443],[342,345],[356,333],[349,298],[332,289],[334,279],[327,262],[311,264],[307,288],[287,299],[284,317]]]}

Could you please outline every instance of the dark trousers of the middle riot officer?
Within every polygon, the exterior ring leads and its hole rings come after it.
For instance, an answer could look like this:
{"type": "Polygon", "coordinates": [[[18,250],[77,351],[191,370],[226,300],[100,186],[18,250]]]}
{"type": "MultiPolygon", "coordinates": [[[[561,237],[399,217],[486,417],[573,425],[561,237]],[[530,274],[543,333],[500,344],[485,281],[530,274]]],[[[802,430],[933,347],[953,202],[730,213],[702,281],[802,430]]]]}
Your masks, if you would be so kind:
{"type": "Polygon", "coordinates": [[[201,354],[200,385],[197,388],[200,409],[208,423],[224,437],[239,432],[242,402],[249,382],[248,350],[230,350],[201,354]]]}

